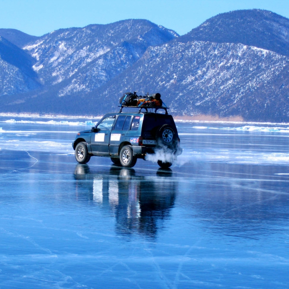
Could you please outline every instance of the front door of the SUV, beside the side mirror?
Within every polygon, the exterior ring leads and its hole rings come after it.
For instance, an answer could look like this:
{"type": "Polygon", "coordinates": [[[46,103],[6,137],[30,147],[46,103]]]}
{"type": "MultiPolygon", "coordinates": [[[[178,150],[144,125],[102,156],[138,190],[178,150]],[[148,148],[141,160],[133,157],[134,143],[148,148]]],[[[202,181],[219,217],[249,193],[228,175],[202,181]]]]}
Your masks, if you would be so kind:
{"type": "Polygon", "coordinates": [[[109,155],[109,140],[115,115],[107,116],[97,125],[91,134],[91,150],[95,155],[109,155]]]}

